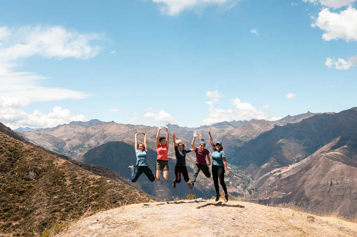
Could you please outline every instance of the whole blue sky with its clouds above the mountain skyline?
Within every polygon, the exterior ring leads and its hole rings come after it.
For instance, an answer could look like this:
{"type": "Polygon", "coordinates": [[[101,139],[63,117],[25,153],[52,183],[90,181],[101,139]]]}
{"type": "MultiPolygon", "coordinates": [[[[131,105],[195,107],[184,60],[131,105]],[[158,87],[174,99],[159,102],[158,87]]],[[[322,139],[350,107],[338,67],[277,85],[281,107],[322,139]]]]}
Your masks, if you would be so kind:
{"type": "Polygon", "coordinates": [[[7,1],[0,122],[196,127],[357,105],[354,0],[7,1]]]}

